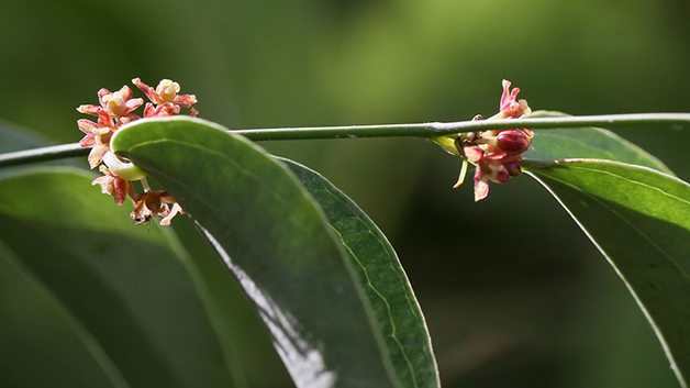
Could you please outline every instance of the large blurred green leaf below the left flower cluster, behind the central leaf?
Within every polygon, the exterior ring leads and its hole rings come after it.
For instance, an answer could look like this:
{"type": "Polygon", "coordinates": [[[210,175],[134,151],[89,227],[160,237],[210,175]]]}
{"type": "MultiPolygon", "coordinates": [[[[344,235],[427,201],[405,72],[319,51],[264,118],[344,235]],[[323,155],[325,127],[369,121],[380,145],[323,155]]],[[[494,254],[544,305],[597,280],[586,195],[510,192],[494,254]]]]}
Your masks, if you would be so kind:
{"type": "MultiPolygon", "coordinates": [[[[10,259],[58,302],[51,308],[60,308],[75,333],[92,339],[85,346],[119,376],[113,386],[234,386],[189,258],[168,233],[133,226],[127,207],[91,187],[92,178],[44,168],[0,179],[0,242],[10,259]]],[[[0,348],[3,358],[13,357],[8,352],[0,348]]],[[[53,368],[25,362],[24,370],[38,375],[53,368]]],[[[48,383],[41,386],[74,386],[48,383]]]]}

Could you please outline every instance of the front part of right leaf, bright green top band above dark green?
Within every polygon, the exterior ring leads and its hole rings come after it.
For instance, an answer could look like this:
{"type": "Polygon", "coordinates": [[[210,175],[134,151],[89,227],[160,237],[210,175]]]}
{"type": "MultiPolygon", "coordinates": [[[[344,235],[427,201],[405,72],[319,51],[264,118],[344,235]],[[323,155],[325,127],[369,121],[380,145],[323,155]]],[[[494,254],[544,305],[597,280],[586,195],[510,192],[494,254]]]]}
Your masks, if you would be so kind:
{"type": "Polygon", "coordinates": [[[597,244],[652,323],[683,387],[690,378],[690,186],[610,160],[527,163],[597,244]]]}

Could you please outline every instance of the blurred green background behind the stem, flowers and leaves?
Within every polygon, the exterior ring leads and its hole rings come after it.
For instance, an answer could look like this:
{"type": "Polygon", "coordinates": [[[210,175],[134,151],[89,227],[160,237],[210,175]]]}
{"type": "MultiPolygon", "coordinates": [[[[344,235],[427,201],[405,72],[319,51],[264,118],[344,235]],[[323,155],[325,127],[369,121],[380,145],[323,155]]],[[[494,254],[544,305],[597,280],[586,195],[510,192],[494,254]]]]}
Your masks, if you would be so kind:
{"type": "MultiPolygon", "coordinates": [[[[498,110],[503,78],[533,109],[688,112],[689,12],[685,0],[0,0],[0,118],[76,142],[75,108],[134,77],[177,80],[201,118],[234,129],[468,120],[498,110]]],[[[617,132],[690,179],[688,129],[617,132]]],[[[459,159],[424,141],[261,145],[321,171],[388,235],[444,387],[678,386],[622,281],[528,177],[475,204],[469,185],[450,189],[459,159]]],[[[290,387],[245,315],[235,336],[255,386],[290,387]]]]}

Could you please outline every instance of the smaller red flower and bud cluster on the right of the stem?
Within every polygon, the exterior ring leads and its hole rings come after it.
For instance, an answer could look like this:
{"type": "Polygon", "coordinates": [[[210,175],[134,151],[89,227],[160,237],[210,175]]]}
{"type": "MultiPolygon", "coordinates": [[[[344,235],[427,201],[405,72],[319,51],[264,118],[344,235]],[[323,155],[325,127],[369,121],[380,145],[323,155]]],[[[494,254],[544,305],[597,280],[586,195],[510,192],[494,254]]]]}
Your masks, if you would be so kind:
{"type": "MultiPolygon", "coordinates": [[[[516,100],[519,88],[510,90],[511,82],[503,80],[500,112],[487,120],[518,119],[532,111],[525,100],[516,100]]],[[[481,120],[476,115],[474,120],[481,120]]],[[[454,188],[458,188],[465,180],[467,162],[476,165],[475,170],[475,201],[480,201],[489,195],[489,181],[505,184],[511,177],[522,173],[520,163],[522,153],[530,148],[534,132],[527,129],[491,130],[485,132],[469,132],[458,134],[454,138],[455,153],[463,156],[463,169],[454,188]]]]}

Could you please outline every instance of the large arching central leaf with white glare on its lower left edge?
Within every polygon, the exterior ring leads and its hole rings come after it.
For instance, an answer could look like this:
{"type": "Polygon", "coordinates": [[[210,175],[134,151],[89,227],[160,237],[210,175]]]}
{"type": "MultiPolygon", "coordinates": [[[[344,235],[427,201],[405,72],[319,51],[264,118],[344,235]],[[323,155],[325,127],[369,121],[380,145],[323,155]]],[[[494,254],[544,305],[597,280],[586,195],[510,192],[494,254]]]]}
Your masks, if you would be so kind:
{"type": "Polygon", "coordinates": [[[280,162],[220,125],[142,120],[113,149],[196,220],[299,387],[400,387],[379,323],[321,209],[280,162]]]}

